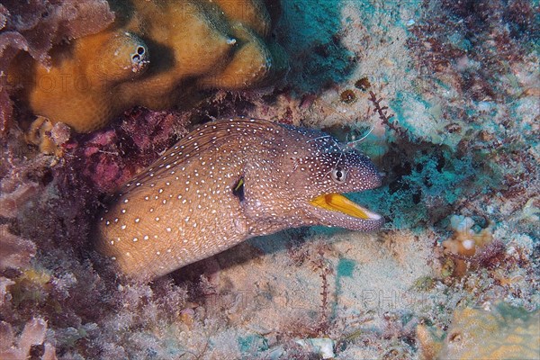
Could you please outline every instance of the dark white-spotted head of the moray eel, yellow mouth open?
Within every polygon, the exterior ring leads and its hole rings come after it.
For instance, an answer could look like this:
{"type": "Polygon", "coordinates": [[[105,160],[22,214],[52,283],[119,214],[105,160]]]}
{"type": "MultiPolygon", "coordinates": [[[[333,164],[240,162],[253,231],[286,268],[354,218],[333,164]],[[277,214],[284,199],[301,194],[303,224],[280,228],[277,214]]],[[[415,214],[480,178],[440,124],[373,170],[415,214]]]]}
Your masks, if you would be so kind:
{"type": "Polygon", "coordinates": [[[290,227],[380,229],[384,223],[381,215],[344,195],[381,185],[381,176],[369,157],[323,132],[282,126],[289,134],[287,143],[281,144],[283,152],[278,151],[275,166],[266,174],[260,174],[264,166],[257,166],[259,173],[252,180],[255,189],[246,196],[257,218],[263,220],[266,213],[269,222],[279,218],[290,227]]]}

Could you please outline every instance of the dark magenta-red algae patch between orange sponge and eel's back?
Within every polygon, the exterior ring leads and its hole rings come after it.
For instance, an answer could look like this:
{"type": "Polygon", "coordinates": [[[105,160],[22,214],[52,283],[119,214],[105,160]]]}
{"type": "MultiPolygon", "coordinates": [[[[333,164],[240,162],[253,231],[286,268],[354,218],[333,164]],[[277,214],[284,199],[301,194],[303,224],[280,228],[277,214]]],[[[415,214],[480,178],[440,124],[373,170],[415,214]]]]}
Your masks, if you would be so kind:
{"type": "Polygon", "coordinates": [[[112,129],[78,136],[66,147],[67,166],[84,175],[98,193],[111,193],[173,145],[187,129],[188,116],[135,108],[112,129]]]}

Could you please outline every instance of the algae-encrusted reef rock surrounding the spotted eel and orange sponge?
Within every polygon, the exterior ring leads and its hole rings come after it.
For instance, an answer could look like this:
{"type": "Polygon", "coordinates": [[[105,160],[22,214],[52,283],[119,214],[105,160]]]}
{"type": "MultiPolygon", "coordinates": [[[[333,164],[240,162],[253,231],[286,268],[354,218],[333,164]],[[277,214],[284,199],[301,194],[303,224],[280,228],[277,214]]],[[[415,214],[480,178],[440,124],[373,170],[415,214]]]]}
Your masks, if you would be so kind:
{"type": "MultiPolygon", "coordinates": [[[[112,9],[117,22],[105,31],[128,26],[136,10],[131,3],[102,7],[107,14],[112,9]]],[[[6,265],[0,269],[0,352],[23,354],[24,327],[41,319],[47,330],[30,341],[42,341],[31,346],[32,358],[45,354],[44,344],[59,359],[329,354],[319,345],[333,347],[336,359],[460,357],[483,354],[482,345],[498,357],[497,351],[511,356],[506,345],[513,339],[525,341],[537,331],[537,2],[281,3],[243,2],[242,11],[238,2],[189,4],[208,4],[204,14],[219,6],[224,14],[217,24],[234,27],[228,20],[237,14],[238,33],[255,34],[266,49],[275,40],[283,44],[293,69],[283,87],[202,90],[204,100],[193,108],[187,99],[182,112],[135,107],[92,134],[36,123],[31,142],[49,137],[42,147],[61,158],[29,147],[19,126],[3,132],[0,229],[10,251],[0,252],[6,265]],[[347,90],[355,102],[341,100],[347,90]],[[323,129],[347,148],[371,154],[383,186],[352,198],[384,214],[383,230],[288,230],[248,239],[152,284],[122,282],[90,241],[105,193],[162,155],[192,124],[238,115],[323,129]],[[491,241],[479,247],[477,238],[491,241]],[[467,255],[471,245],[474,254],[467,255]],[[457,275],[462,261],[464,274],[457,275]]],[[[4,61],[15,53],[23,57],[30,39],[49,44],[28,48],[45,55],[76,43],[56,34],[83,19],[73,17],[40,38],[40,24],[52,26],[61,17],[54,11],[32,17],[31,9],[94,4],[97,10],[105,3],[18,2],[26,14],[21,28],[13,23],[15,2],[2,4],[4,61]]],[[[145,4],[151,11],[168,3],[145,4]]],[[[88,19],[90,32],[97,32],[112,17],[88,19]]],[[[149,28],[141,23],[140,29],[149,28]]],[[[159,43],[139,30],[130,33],[144,42],[148,53],[141,55],[150,61],[130,76],[145,78],[153,74],[159,43]]],[[[232,59],[240,48],[229,46],[232,59]]],[[[47,65],[38,58],[31,62],[47,65]]],[[[5,90],[3,116],[11,109],[4,106],[10,101],[5,90]]],[[[31,119],[20,104],[15,125],[31,119]]]]}

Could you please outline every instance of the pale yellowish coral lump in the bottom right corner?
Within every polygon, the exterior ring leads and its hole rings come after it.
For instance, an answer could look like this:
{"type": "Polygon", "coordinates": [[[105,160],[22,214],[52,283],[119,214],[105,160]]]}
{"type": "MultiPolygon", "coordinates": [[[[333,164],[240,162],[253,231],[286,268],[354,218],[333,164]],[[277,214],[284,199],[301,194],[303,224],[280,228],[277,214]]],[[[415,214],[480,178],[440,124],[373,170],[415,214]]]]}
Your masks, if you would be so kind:
{"type": "Polygon", "coordinates": [[[456,310],[446,336],[423,325],[417,332],[423,360],[536,359],[540,354],[540,311],[528,312],[505,302],[487,310],[456,310]]]}

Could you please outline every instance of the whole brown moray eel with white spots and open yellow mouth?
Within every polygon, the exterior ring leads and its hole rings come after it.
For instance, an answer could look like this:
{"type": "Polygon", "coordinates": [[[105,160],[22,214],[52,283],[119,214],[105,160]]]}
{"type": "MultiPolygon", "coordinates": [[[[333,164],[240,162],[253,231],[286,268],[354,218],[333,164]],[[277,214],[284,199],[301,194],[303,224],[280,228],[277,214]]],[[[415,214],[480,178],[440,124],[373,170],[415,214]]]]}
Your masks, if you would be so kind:
{"type": "Polygon", "coordinates": [[[99,217],[97,248],[130,278],[148,281],[282,229],[376,230],[383,217],[341,193],[380,184],[368,157],[324,132],[213,121],[119,190],[99,217]]]}

